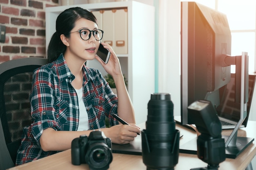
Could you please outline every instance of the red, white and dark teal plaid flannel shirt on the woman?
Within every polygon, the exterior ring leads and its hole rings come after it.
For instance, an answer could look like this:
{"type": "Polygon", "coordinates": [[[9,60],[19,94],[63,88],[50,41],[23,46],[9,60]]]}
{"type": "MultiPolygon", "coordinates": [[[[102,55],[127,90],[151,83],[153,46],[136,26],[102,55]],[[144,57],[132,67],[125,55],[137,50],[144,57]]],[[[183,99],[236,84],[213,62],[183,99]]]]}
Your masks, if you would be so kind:
{"type": "MultiPolygon", "coordinates": [[[[61,54],[56,61],[36,69],[31,93],[33,124],[23,129],[16,165],[33,161],[57,151],[45,152],[39,139],[43,129],[76,131],[79,123],[78,97],[71,82],[74,75],[61,54]]],[[[98,70],[83,66],[83,102],[88,112],[90,129],[105,127],[105,116],[110,125],[118,124],[111,113],[117,113],[117,96],[98,70]]]]}

